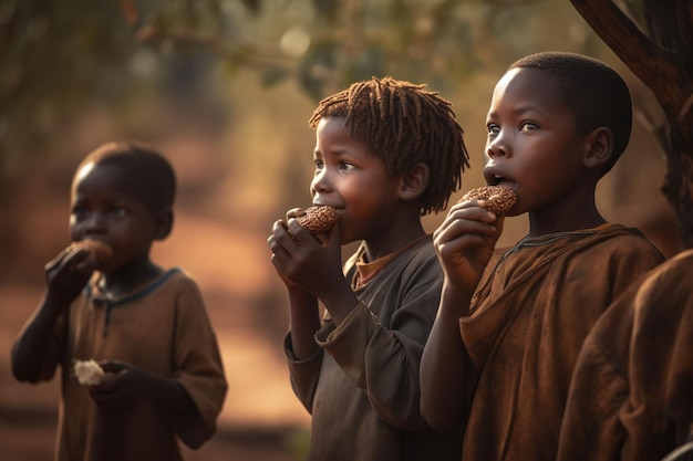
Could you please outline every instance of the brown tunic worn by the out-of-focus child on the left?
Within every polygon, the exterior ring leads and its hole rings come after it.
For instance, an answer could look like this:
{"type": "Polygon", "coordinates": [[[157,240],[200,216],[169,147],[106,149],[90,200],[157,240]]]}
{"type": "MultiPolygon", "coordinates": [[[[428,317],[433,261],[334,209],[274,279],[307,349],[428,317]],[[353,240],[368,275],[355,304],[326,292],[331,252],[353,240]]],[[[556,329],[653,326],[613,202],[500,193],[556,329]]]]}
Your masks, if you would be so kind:
{"type": "MultiPolygon", "coordinates": [[[[177,438],[214,434],[226,378],[201,294],[186,272],[172,270],[110,307],[90,284],[56,325],[55,340],[62,350],[56,460],[175,461],[182,459],[177,438]],[[167,418],[152,401],[99,408],[72,370],[73,360],[90,358],[123,360],[175,379],[198,413],[167,418]]],[[[58,365],[44,364],[40,378],[51,378],[58,365]]]]}

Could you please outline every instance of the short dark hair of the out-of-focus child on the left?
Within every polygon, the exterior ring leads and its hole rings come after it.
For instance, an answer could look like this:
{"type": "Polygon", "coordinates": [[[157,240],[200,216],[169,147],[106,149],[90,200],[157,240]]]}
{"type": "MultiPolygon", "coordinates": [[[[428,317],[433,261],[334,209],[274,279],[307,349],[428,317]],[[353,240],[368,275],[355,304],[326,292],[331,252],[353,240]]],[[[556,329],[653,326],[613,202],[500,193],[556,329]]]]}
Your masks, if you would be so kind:
{"type": "Polygon", "coordinates": [[[131,192],[153,212],[173,207],[176,175],[162,153],[139,142],[106,143],[92,150],[80,164],[113,165],[127,175],[131,192]]]}

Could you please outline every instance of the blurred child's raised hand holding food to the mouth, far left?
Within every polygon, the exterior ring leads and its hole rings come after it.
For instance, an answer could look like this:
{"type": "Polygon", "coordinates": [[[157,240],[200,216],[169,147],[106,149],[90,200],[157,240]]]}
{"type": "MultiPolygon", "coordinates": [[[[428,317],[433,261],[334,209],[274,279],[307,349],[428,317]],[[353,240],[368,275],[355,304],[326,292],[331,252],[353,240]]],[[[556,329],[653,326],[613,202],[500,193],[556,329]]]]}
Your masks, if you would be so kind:
{"type": "Polygon", "coordinates": [[[45,264],[46,300],[60,312],[79,296],[94,272],[96,261],[84,248],[68,247],[45,264]]]}

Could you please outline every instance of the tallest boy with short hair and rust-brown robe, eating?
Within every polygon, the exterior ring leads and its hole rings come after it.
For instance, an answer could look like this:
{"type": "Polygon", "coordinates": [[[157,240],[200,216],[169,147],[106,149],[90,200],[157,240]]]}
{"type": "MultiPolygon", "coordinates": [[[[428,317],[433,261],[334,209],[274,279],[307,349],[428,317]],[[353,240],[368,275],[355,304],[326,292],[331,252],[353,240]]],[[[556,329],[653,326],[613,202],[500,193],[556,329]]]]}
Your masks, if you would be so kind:
{"type": "Polygon", "coordinates": [[[445,273],[422,359],[422,412],[463,431],[463,460],[552,460],[582,342],[619,293],[662,261],[634,229],[608,223],[599,179],[625,148],[631,102],[596,60],[546,52],[500,78],[484,176],[529,213],[529,234],[494,251],[503,216],[455,205],[434,233],[445,273]]]}

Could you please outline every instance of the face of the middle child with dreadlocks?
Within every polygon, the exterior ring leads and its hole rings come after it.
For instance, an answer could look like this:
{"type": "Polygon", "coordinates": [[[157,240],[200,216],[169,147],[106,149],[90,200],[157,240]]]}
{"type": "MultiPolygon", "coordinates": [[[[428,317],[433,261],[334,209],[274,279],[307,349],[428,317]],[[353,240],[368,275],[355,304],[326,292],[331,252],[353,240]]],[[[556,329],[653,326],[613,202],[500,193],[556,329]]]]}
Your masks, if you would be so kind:
{"type": "Polygon", "coordinates": [[[342,243],[371,240],[392,226],[402,178],[387,174],[385,164],[349,135],[343,117],[320,121],[313,160],[313,203],[340,210],[342,243]]]}

